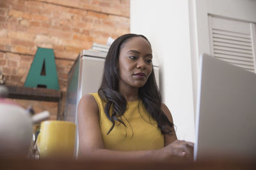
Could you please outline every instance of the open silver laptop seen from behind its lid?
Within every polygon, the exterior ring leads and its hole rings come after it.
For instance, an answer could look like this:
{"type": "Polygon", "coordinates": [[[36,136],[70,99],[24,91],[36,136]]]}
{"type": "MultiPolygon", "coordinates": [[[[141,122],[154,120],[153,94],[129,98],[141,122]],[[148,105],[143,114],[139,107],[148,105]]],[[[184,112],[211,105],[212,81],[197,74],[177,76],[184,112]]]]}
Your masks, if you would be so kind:
{"type": "Polygon", "coordinates": [[[200,56],[194,159],[256,157],[256,74],[200,56]]]}

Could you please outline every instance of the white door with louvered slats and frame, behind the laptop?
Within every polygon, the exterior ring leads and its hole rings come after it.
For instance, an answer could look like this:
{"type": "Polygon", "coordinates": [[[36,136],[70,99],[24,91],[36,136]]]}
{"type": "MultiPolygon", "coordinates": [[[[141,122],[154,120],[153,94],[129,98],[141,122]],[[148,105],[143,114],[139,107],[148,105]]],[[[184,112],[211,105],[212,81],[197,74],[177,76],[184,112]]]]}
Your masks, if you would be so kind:
{"type": "Polygon", "coordinates": [[[200,53],[255,71],[256,1],[189,1],[193,98],[196,108],[200,53]]]}

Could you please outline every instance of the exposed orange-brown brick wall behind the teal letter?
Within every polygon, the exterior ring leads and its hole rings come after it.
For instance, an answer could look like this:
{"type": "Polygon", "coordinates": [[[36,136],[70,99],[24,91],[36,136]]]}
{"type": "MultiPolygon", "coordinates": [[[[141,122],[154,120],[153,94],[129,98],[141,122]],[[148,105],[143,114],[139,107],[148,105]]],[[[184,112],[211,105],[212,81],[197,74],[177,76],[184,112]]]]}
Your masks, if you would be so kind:
{"type": "Polygon", "coordinates": [[[128,32],[129,0],[0,0],[0,71],[6,85],[23,86],[37,47],[52,48],[65,91],[82,49],[128,32]]]}

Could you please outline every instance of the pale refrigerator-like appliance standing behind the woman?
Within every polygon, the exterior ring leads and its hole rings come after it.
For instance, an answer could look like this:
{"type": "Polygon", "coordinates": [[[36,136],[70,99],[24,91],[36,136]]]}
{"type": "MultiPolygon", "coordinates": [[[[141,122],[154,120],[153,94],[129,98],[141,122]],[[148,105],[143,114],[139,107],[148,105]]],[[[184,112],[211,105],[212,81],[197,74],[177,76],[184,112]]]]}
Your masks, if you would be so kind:
{"type": "MultiPolygon", "coordinates": [[[[82,50],[68,73],[67,99],[64,120],[77,124],[77,106],[81,97],[88,93],[97,92],[102,80],[106,52],[82,50]]],[[[159,87],[159,67],[153,64],[157,86],[159,87]]],[[[78,130],[78,129],[77,129],[78,130]]],[[[74,157],[78,153],[78,131],[74,157]]]]}

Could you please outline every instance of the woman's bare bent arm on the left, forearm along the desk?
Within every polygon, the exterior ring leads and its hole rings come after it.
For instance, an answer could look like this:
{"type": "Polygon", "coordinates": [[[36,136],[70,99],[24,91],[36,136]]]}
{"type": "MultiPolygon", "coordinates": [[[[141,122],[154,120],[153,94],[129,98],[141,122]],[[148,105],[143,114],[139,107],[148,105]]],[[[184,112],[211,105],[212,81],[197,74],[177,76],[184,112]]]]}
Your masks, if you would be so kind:
{"type": "Polygon", "coordinates": [[[97,159],[119,160],[165,160],[172,157],[186,157],[182,152],[186,142],[172,143],[161,150],[140,150],[122,152],[106,150],[102,139],[99,125],[99,109],[94,97],[90,94],[83,96],[78,106],[78,129],[79,129],[79,158],[89,157],[97,159]],[[174,145],[173,145],[174,144],[174,145]],[[175,148],[175,149],[174,149],[175,148]]]}

